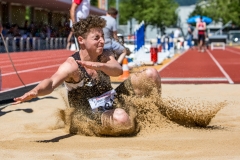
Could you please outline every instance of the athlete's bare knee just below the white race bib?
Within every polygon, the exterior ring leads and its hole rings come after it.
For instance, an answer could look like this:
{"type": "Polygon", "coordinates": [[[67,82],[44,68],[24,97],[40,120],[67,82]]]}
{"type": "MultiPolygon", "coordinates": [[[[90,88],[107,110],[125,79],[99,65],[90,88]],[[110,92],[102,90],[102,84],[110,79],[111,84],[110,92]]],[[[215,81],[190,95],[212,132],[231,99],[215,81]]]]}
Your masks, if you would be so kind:
{"type": "Polygon", "coordinates": [[[129,115],[121,108],[116,108],[114,110],[113,120],[116,125],[127,125],[130,121],[129,115]]]}

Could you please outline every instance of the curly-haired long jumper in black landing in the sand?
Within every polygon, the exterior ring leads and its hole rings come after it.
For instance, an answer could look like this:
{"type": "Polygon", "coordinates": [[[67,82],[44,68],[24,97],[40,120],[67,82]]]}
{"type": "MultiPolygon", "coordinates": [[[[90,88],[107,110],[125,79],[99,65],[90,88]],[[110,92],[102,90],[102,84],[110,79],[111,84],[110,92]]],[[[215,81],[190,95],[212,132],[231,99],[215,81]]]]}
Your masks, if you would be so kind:
{"type": "MultiPolygon", "coordinates": [[[[132,117],[128,111],[130,102],[124,97],[136,95],[136,98],[141,98],[148,96],[149,92],[155,89],[160,95],[160,75],[154,68],[145,69],[131,75],[113,90],[110,76],[119,76],[123,70],[113,53],[103,49],[102,28],[105,25],[106,21],[96,15],[90,15],[75,23],[74,34],[78,39],[80,50],[68,57],[50,78],[43,80],[23,96],[15,98],[15,104],[50,94],[64,83],[68,90],[69,105],[74,109],[71,117],[79,122],[89,122],[76,128],[72,120],[70,133],[93,130],[90,122],[95,122],[94,127],[110,129],[111,132],[105,132],[105,135],[126,134],[126,130],[130,130],[128,134],[135,132],[131,128],[135,122],[131,121],[132,117]],[[117,95],[114,98],[115,92],[117,95]],[[114,130],[115,128],[117,130],[114,130]]],[[[95,134],[101,134],[101,131],[99,132],[95,134]]]]}

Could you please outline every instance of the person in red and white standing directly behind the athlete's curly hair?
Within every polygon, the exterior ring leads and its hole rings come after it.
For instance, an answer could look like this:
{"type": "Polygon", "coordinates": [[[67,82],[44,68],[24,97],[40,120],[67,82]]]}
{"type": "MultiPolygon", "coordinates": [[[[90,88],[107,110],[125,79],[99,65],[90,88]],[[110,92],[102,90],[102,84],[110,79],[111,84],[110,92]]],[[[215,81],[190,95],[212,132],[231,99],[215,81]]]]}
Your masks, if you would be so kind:
{"type": "MultiPolygon", "coordinates": [[[[80,19],[85,19],[89,15],[90,12],[90,0],[72,0],[72,5],[70,8],[70,27],[76,22],[80,21],[80,19]]],[[[77,51],[79,51],[79,45],[77,39],[75,37],[75,45],[77,51]]]]}

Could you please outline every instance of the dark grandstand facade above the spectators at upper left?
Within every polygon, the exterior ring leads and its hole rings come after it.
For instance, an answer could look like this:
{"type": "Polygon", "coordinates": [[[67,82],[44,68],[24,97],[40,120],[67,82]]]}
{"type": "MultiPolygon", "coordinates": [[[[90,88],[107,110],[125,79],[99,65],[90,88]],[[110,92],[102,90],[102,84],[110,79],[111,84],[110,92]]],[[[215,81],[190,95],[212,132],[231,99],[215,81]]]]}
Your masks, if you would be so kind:
{"type": "MultiPolygon", "coordinates": [[[[18,24],[38,22],[58,26],[69,20],[71,0],[0,0],[0,22],[18,24]]],[[[106,11],[91,6],[90,14],[105,15],[106,11]]]]}

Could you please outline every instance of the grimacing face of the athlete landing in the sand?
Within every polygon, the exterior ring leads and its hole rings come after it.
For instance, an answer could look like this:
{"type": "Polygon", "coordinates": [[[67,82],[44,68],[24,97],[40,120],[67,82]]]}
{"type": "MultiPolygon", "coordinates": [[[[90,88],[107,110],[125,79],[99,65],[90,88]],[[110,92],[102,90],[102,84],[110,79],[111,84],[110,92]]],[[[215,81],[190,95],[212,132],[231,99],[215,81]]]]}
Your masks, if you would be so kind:
{"type": "Polygon", "coordinates": [[[85,41],[85,47],[90,53],[100,55],[103,52],[104,47],[104,34],[102,28],[92,28],[87,35],[85,41]]]}

